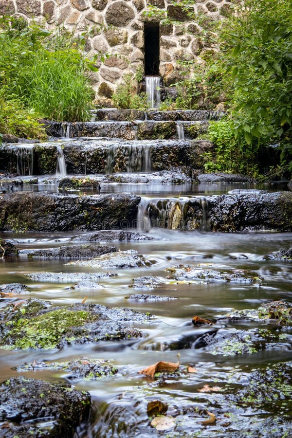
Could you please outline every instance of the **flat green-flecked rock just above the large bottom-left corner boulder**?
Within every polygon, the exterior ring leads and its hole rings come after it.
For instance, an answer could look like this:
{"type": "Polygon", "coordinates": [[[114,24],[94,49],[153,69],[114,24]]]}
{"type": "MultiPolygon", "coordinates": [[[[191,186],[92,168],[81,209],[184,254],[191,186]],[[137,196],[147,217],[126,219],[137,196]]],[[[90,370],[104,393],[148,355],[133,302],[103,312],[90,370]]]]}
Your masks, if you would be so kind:
{"type": "Polygon", "coordinates": [[[118,368],[105,359],[88,359],[86,357],[67,362],[26,362],[14,368],[18,372],[49,369],[64,372],[67,379],[95,380],[113,376],[118,368]]]}

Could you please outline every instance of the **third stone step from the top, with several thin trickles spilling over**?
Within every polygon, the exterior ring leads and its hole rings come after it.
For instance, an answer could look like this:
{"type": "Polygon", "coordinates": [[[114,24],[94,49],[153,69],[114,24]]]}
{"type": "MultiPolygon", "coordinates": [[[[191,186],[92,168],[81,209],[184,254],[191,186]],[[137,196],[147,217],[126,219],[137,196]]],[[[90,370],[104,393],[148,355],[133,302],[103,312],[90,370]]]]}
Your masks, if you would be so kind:
{"type": "Polygon", "coordinates": [[[19,175],[86,175],[181,167],[191,174],[192,169],[203,169],[202,154],[212,148],[206,140],[125,142],[103,138],[3,145],[0,170],[19,175]],[[60,162],[66,173],[60,171],[60,162]]]}

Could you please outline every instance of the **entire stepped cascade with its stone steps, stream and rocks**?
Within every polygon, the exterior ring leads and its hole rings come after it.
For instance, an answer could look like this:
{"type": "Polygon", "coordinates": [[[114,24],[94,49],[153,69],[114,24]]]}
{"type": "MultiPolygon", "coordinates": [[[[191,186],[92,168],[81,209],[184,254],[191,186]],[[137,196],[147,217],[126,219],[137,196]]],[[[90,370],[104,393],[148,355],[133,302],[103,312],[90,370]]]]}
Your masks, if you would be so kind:
{"type": "Polygon", "coordinates": [[[55,427],[56,381],[80,391],[59,409],[92,405],[80,438],[156,436],[152,417],[175,437],[289,433],[292,191],[206,174],[223,112],[157,110],[149,78],[151,110],[0,147],[0,397],[19,384],[41,412],[5,407],[13,436],[55,427]]]}

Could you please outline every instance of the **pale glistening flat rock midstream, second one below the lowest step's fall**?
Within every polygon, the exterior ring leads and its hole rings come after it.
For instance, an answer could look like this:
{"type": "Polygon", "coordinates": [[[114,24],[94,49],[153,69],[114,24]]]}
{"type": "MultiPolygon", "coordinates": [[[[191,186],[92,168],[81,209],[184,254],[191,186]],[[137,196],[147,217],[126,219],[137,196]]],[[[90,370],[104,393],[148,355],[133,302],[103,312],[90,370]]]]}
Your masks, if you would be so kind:
{"type": "Polygon", "coordinates": [[[90,268],[140,268],[150,266],[153,262],[146,260],[138,251],[128,250],[117,253],[104,254],[90,260],[77,260],[70,264],[77,266],[87,266],[90,268]]]}

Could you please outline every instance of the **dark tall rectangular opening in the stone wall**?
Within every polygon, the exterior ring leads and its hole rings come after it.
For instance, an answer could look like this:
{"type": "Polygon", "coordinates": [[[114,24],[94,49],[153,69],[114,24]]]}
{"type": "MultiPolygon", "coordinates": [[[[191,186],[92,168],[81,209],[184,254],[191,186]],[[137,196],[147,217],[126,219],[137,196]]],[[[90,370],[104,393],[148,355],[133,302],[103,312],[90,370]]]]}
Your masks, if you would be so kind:
{"type": "Polygon", "coordinates": [[[144,25],[145,74],[159,75],[159,23],[144,25]]]}

